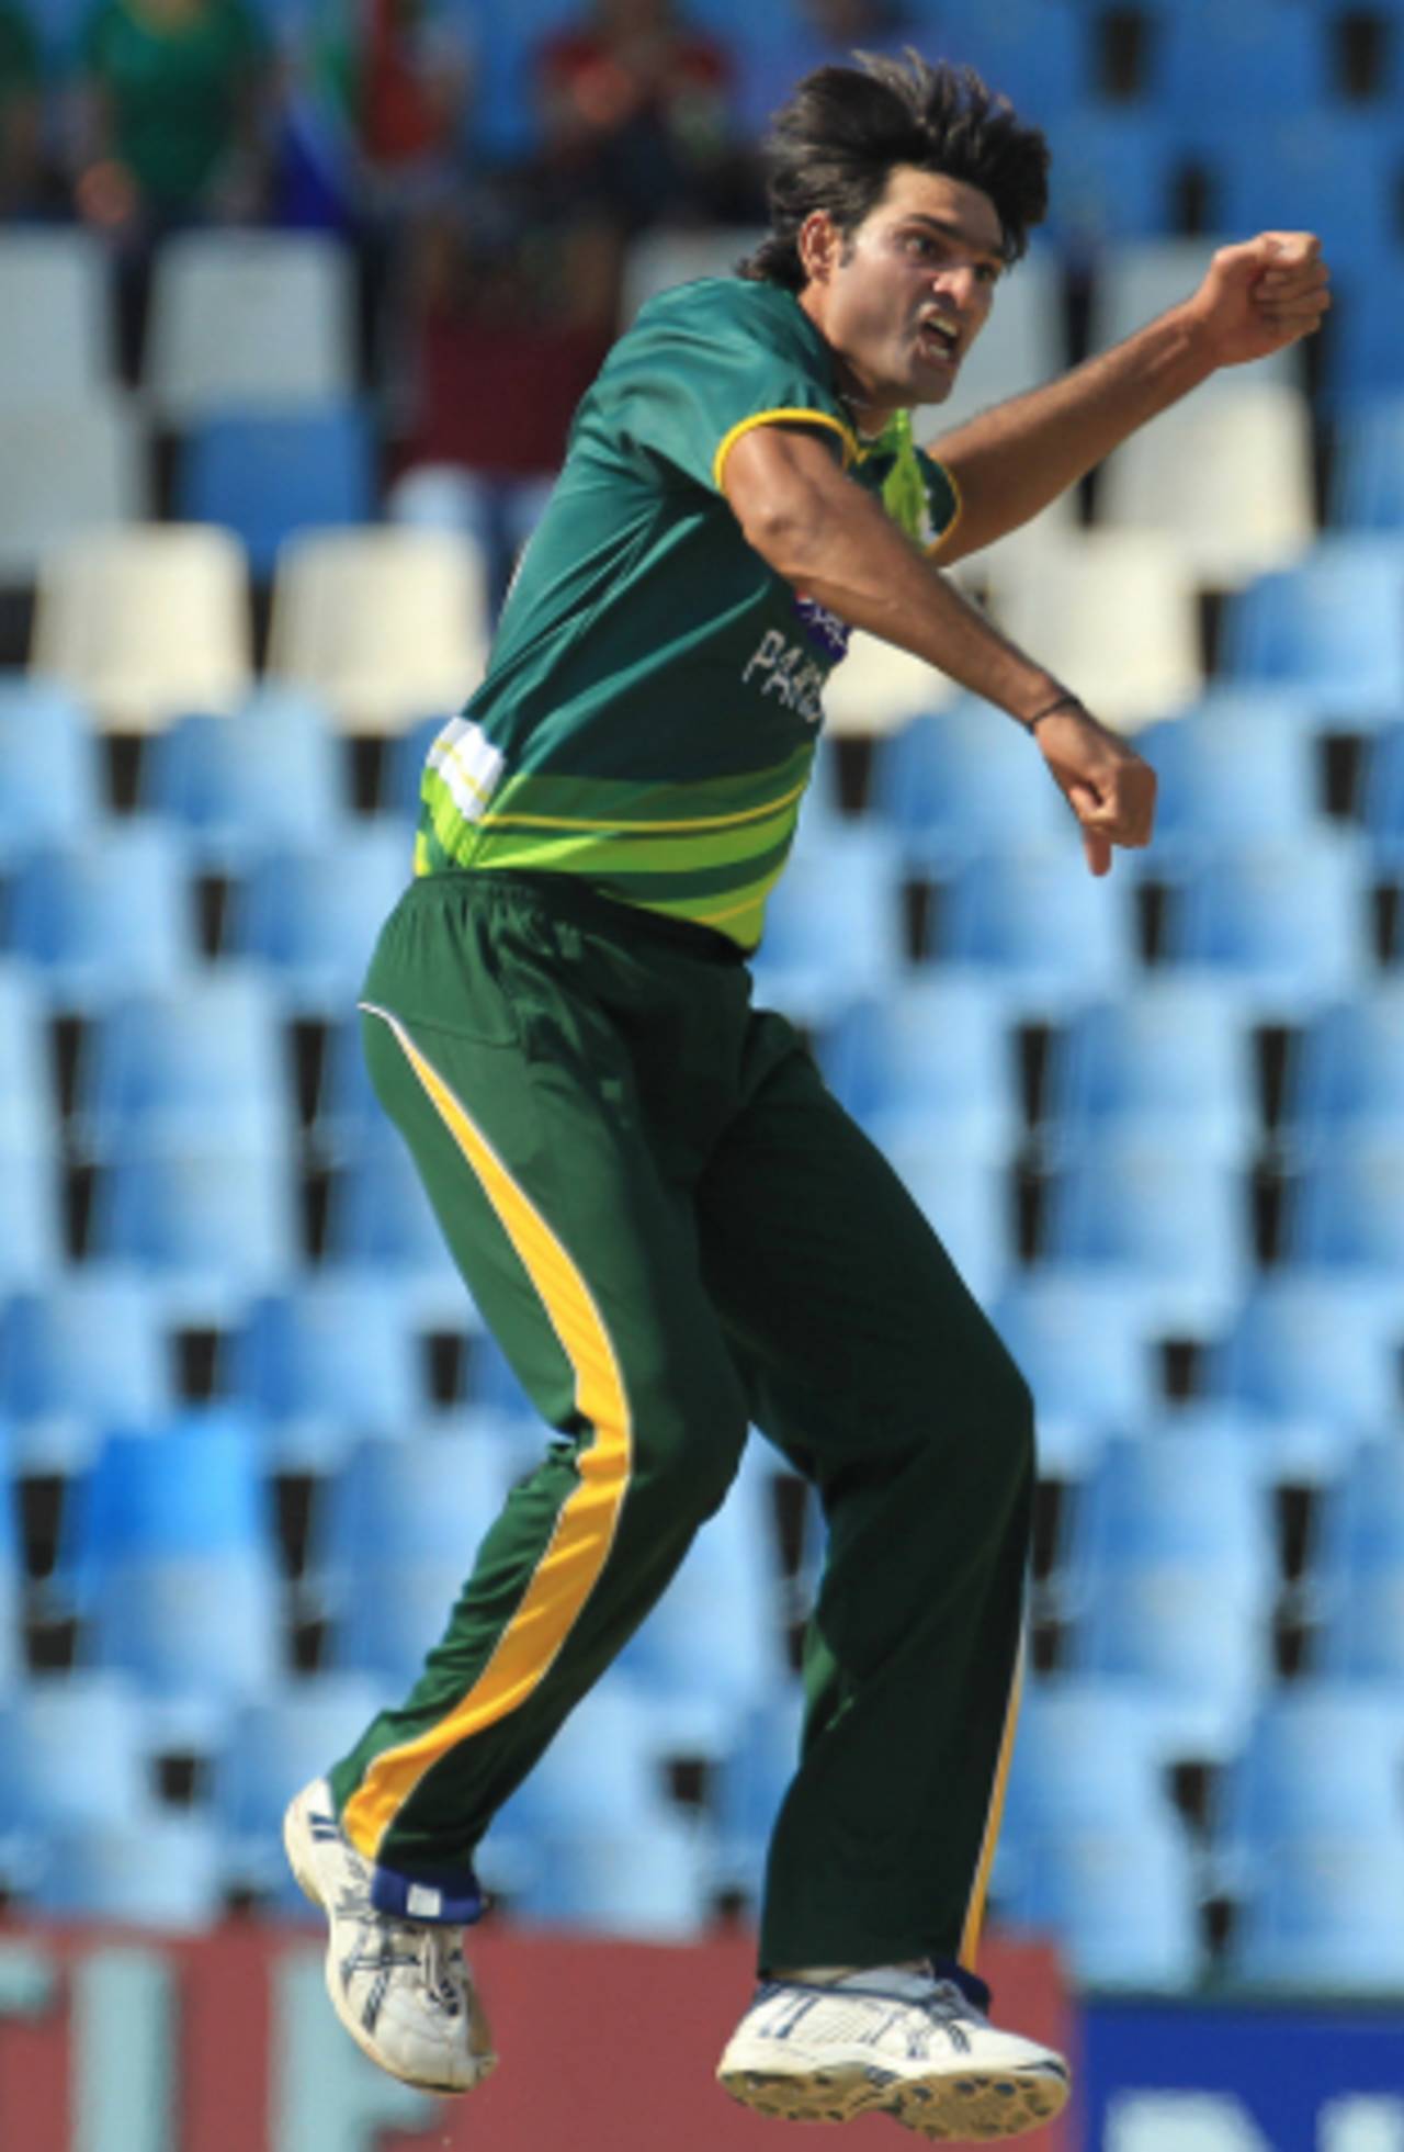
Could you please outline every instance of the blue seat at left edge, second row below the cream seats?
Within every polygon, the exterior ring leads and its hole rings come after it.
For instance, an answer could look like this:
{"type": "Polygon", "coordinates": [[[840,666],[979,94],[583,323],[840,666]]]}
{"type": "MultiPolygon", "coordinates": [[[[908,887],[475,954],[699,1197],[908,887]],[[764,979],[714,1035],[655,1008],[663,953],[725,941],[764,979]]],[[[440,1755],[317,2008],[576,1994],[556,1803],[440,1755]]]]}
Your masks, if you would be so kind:
{"type": "Polygon", "coordinates": [[[84,1016],[120,994],[181,988],[196,971],[185,841],[142,816],[30,852],[11,882],[6,940],[52,1003],[84,1016]]]}

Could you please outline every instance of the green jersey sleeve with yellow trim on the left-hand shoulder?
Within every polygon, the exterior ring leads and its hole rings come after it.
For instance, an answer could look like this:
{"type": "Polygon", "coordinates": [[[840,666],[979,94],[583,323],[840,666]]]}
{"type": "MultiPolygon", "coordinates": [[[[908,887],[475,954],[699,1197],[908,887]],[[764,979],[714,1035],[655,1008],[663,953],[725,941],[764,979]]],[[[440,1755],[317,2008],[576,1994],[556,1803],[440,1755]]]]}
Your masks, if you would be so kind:
{"type": "Polygon", "coordinates": [[[854,430],[793,301],[740,282],[697,293],[649,308],[617,346],[615,424],[628,445],[718,493],[727,456],[755,426],[813,426],[847,465],[854,430]]]}

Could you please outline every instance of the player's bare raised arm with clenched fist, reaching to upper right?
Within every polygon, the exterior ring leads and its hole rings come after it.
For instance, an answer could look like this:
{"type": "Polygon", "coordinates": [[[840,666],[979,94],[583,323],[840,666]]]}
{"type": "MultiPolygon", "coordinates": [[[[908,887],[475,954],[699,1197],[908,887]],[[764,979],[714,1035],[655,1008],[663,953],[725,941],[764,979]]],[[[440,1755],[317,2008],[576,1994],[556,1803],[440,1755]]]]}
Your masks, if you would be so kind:
{"type": "MultiPolygon", "coordinates": [[[[933,557],[946,568],[1028,523],[1221,366],[1245,366],[1312,336],[1331,303],[1327,286],[1312,232],[1260,232],[1219,247],[1180,306],[1047,387],[937,437],[931,454],[959,486],[961,516],[933,557]]],[[[980,364],[978,346],[972,364],[980,364]]]]}

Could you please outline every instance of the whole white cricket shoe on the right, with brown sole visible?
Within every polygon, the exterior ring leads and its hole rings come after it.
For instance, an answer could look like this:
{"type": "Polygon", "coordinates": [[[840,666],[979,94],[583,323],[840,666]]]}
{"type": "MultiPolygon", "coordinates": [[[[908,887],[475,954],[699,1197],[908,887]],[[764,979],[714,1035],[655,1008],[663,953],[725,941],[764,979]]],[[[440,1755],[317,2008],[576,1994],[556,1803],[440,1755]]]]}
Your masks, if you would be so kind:
{"type": "Polygon", "coordinates": [[[1071,2085],[1062,2055],[1000,2031],[961,1982],[905,1967],[763,1982],[716,2075],[761,2115],[888,2113],[959,2141],[1036,2130],[1071,2085]]]}

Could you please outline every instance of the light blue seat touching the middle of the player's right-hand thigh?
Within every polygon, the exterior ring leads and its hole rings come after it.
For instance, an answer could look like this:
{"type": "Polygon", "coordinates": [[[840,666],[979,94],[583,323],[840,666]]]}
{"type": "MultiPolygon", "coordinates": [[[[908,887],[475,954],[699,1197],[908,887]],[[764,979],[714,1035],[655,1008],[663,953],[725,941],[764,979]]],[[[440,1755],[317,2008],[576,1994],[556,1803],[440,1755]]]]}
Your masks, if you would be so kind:
{"type": "Polygon", "coordinates": [[[1004,996],[983,979],[922,977],[847,1009],[819,1039],[830,1089],[875,1143],[948,1141],[1013,1158],[1023,1117],[1004,996]]]}

